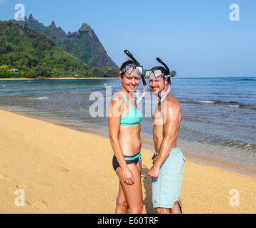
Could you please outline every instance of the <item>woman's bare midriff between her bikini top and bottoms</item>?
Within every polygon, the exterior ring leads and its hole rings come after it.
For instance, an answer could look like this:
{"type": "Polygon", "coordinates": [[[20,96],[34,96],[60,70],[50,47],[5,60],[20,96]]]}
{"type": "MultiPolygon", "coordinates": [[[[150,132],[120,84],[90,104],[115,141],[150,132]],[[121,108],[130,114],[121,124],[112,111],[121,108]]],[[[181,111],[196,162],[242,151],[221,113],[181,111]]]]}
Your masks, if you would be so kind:
{"type": "Polygon", "coordinates": [[[119,143],[124,156],[134,156],[142,147],[140,123],[132,126],[120,126],[119,143]]]}

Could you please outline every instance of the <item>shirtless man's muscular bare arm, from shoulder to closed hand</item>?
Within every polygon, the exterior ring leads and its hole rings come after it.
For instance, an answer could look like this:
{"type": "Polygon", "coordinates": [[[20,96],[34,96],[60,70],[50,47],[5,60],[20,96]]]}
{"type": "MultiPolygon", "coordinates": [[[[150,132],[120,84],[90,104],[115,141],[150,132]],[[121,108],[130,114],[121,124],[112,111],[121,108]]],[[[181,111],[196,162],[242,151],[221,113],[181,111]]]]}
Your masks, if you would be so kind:
{"type": "Polygon", "coordinates": [[[169,152],[172,150],[176,133],[179,128],[179,110],[178,103],[167,102],[167,108],[163,113],[164,119],[164,138],[162,140],[157,160],[155,160],[153,167],[149,170],[148,175],[150,177],[157,178],[159,176],[160,167],[162,163],[167,159],[169,152]]]}

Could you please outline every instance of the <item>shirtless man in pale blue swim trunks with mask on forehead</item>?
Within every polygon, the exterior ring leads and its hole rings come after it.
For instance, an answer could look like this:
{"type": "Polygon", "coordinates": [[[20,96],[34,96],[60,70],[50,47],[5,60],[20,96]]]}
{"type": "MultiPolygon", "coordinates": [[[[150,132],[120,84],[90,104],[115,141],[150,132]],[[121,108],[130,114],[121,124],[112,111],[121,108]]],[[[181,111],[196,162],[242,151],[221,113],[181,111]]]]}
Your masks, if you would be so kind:
{"type": "MultiPolygon", "coordinates": [[[[165,64],[163,64],[166,66],[165,64]]],[[[167,66],[166,66],[167,68],[167,66]]],[[[184,156],[177,147],[182,108],[177,98],[169,93],[169,69],[154,67],[147,71],[149,87],[159,102],[153,116],[154,154],[152,177],[152,202],[159,214],[179,214],[179,192],[184,171],[184,156]]]]}

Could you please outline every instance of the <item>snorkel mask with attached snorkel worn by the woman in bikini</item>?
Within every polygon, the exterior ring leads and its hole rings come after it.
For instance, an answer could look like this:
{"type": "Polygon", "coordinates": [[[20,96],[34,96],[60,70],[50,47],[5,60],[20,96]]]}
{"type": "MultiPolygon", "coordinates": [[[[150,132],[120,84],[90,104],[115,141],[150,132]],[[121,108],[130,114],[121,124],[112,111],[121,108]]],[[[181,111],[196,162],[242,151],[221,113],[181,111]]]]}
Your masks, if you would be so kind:
{"type": "Polygon", "coordinates": [[[120,73],[124,72],[124,73],[127,73],[127,76],[131,76],[132,75],[132,72],[134,71],[134,69],[137,71],[137,75],[138,75],[138,78],[142,78],[142,83],[143,83],[143,93],[142,95],[140,95],[140,93],[136,90],[134,92],[134,95],[135,95],[135,102],[136,104],[139,104],[142,102],[142,98],[144,98],[144,96],[146,95],[147,93],[147,83],[146,83],[146,80],[144,78],[144,75],[143,75],[143,67],[140,66],[139,62],[132,56],[132,53],[130,53],[129,51],[127,50],[124,50],[124,53],[132,59],[132,61],[134,62],[134,64],[129,64],[127,66],[125,66],[122,71],[120,71],[120,73]]]}

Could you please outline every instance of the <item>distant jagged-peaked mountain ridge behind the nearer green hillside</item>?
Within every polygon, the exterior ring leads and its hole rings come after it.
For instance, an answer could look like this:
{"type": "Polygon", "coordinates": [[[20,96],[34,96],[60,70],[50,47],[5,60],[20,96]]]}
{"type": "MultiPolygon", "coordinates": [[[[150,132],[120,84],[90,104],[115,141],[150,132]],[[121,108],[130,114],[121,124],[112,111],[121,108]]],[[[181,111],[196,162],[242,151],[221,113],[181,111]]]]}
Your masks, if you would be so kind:
{"type": "Polygon", "coordinates": [[[44,26],[34,19],[32,14],[29,19],[25,18],[25,21],[16,22],[50,36],[56,46],[87,63],[91,68],[104,66],[117,68],[117,65],[107,55],[94,30],[86,23],[82,24],[79,31],[65,33],[61,27],[56,27],[54,21],[51,25],[44,26]]]}

